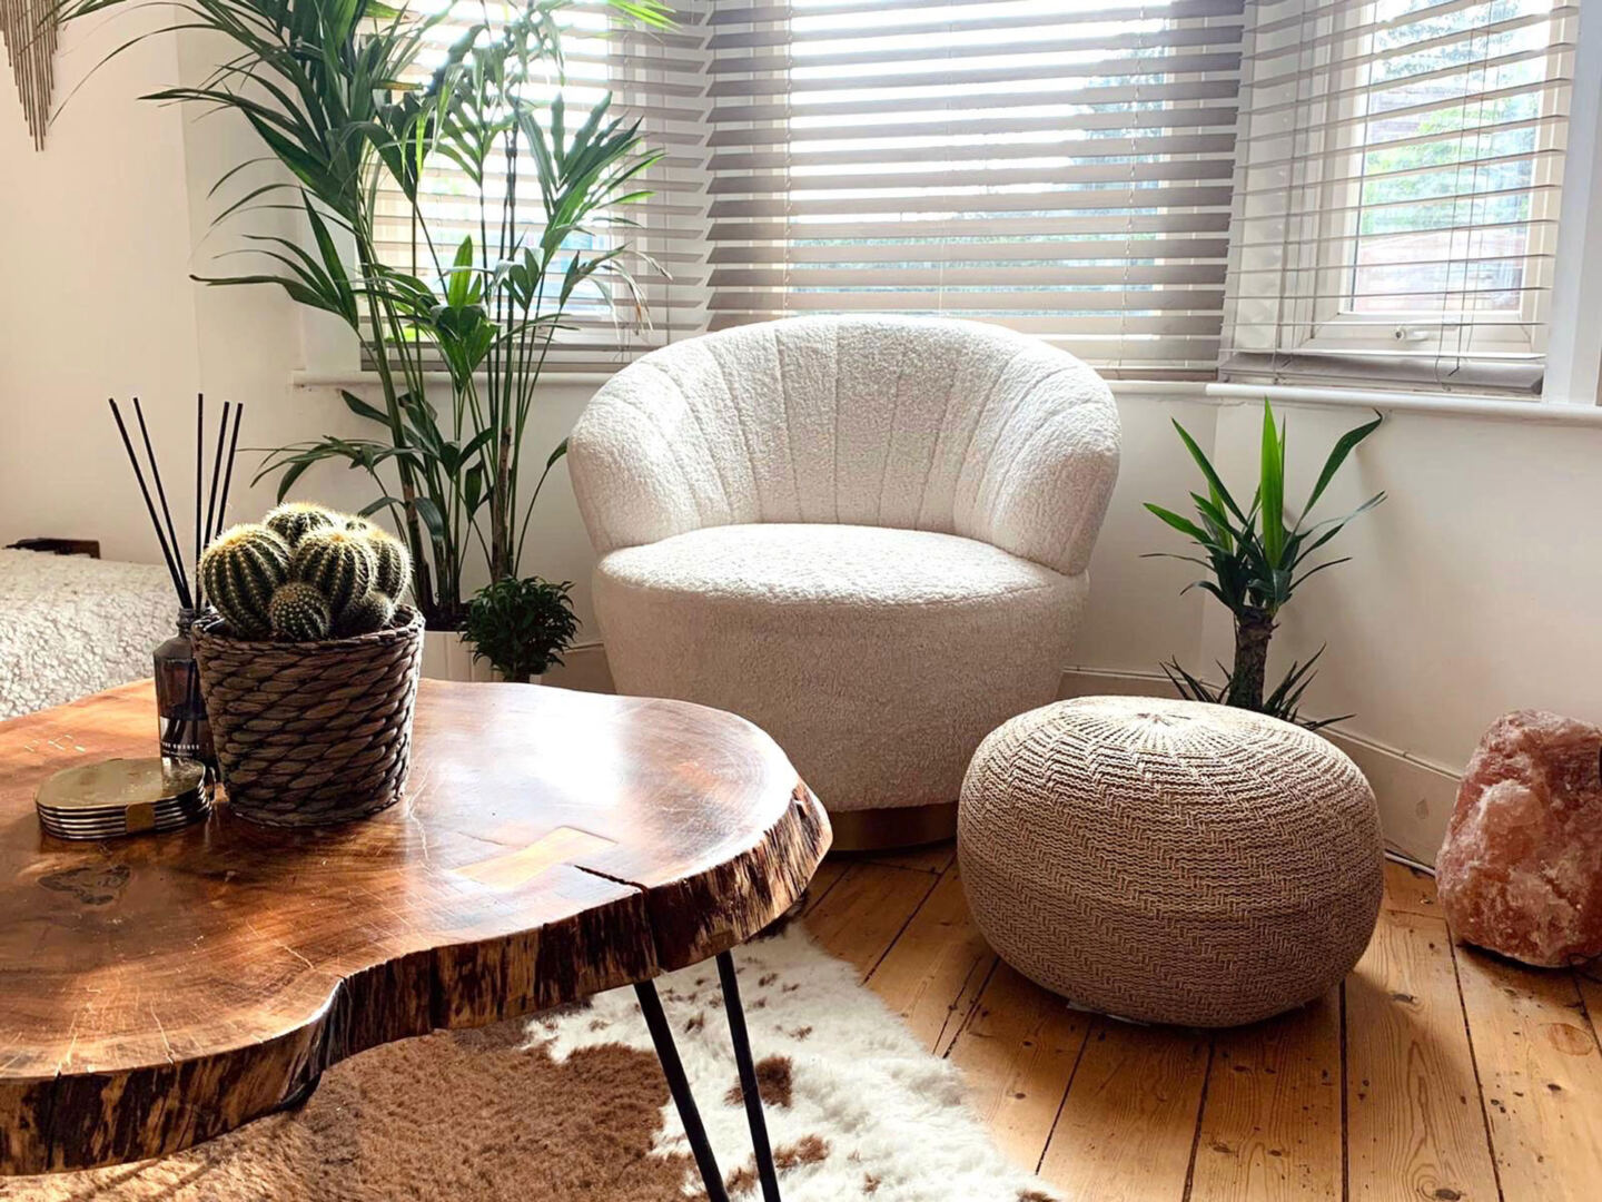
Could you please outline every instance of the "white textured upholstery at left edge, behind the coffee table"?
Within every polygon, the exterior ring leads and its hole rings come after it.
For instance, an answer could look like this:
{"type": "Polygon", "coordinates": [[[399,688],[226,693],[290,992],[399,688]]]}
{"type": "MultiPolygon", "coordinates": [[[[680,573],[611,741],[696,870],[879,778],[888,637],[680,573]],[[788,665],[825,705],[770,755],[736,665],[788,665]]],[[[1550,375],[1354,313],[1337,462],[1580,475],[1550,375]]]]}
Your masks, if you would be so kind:
{"type": "Polygon", "coordinates": [[[176,615],[165,567],[0,550],[0,718],[149,676],[176,615]]]}

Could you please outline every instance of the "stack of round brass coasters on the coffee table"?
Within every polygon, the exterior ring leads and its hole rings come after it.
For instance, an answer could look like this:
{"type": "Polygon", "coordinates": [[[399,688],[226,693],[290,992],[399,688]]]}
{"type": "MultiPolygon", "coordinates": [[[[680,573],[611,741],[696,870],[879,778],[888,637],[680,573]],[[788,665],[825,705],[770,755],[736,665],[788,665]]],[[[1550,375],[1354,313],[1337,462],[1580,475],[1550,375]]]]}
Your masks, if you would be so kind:
{"type": "Polygon", "coordinates": [[[103,760],[56,772],[34,808],[59,838],[115,838],[202,822],[211,795],[199,760],[103,760]]]}

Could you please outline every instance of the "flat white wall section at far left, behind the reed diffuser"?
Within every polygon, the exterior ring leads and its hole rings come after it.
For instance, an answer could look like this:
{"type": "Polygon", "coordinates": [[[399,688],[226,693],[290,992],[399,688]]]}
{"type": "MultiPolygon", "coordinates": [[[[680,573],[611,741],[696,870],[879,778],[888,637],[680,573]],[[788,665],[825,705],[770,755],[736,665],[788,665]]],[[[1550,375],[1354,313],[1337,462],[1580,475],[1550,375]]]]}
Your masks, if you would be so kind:
{"type": "MultiPolygon", "coordinates": [[[[151,16],[67,29],[58,104],[151,16]]],[[[160,407],[199,380],[183,122],[128,99],[176,69],[170,38],[135,46],[37,154],[0,64],[0,543],[80,534],[112,556],[151,555],[106,397],[160,407]]]]}

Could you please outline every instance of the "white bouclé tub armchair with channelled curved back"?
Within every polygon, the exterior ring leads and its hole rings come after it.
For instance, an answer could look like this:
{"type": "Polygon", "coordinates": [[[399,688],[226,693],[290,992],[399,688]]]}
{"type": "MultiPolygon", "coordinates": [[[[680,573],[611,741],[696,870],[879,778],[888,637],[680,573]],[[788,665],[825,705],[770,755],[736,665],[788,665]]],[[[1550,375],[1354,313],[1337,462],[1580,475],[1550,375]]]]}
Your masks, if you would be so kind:
{"type": "Polygon", "coordinates": [[[620,692],[734,710],[836,846],[940,838],[1056,697],[1118,474],[1089,367],[992,325],[803,317],[618,372],[570,442],[620,692]]]}

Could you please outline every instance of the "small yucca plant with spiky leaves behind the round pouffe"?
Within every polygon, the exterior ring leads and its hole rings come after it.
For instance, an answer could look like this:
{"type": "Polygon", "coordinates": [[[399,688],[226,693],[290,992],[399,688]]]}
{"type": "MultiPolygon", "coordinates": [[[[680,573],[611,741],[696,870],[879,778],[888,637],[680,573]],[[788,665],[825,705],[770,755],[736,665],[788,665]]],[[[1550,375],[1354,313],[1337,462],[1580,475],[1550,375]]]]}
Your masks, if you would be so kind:
{"type": "MultiPolygon", "coordinates": [[[[1293,664],[1285,678],[1267,694],[1267,662],[1269,641],[1274,638],[1275,620],[1280,609],[1291,599],[1301,585],[1309,579],[1347,563],[1349,556],[1310,563],[1312,556],[1330,543],[1346,524],[1360,513],[1365,513],[1384,498],[1378,492],[1350,513],[1339,518],[1326,518],[1309,524],[1309,514],[1323,497],[1325,489],[1339,473],[1341,465],[1352,450],[1375,430],[1383,418],[1376,413],[1373,422],[1346,431],[1330,455],[1325,458],[1318,481],[1314,484],[1307,502],[1294,519],[1288,519],[1285,506],[1285,434],[1283,423],[1275,425],[1274,407],[1264,401],[1262,405],[1262,450],[1259,458],[1259,479],[1251,502],[1242,506],[1224,486],[1213,462],[1197,444],[1190,433],[1174,422],[1185,450],[1202,470],[1206,482],[1206,495],[1190,494],[1197,521],[1166,510],[1161,505],[1147,503],[1147,510],[1161,518],[1168,526],[1179,530],[1195,543],[1198,555],[1179,555],[1173,551],[1153,551],[1157,558],[1184,559],[1208,569],[1208,577],[1195,580],[1185,587],[1203,588],[1216,596],[1235,619],[1235,662],[1230,668],[1219,668],[1226,673],[1221,688],[1210,688],[1197,676],[1185,672],[1177,660],[1163,665],[1168,678],[1181,696],[1192,700],[1219,702],[1246,710],[1270,713],[1288,721],[1301,721],[1299,705],[1302,692],[1314,675],[1314,664],[1320,649],[1306,664],[1293,664]]],[[[1350,716],[1350,715],[1347,715],[1350,716]]],[[[1326,726],[1341,718],[1304,723],[1307,726],[1326,726]]]]}

